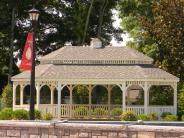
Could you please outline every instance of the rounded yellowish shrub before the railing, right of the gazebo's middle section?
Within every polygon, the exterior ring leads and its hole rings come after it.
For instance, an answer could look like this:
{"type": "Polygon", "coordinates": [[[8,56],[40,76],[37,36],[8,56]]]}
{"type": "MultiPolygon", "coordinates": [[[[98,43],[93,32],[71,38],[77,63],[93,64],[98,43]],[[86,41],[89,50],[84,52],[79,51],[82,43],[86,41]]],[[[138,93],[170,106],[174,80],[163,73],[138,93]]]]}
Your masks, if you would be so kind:
{"type": "Polygon", "coordinates": [[[136,121],[137,116],[131,111],[123,112],[123,114],[121,115],[121,120],[123,120],[123,121],[136,121]]]}

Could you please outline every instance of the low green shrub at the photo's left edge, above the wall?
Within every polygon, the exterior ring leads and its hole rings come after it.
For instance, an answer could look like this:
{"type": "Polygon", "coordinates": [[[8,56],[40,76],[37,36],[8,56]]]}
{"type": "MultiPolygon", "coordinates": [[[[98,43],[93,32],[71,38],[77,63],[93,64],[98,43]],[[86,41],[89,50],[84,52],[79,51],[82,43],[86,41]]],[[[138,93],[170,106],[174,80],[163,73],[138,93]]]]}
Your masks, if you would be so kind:
{"type": "Polygon", "coordinates": [[[4,108],[0,112],[0,120],[11,120],[13,118],[12,108],[4,108]]]}

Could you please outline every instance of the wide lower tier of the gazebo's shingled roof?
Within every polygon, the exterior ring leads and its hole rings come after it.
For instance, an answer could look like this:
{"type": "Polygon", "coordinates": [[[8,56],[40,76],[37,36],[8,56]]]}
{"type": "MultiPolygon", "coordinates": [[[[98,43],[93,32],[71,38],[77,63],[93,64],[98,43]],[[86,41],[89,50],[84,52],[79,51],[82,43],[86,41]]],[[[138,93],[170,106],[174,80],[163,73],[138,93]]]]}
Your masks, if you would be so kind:
{"type": "MultiPolygon", "coordinates": [[[[29,79],[30,71],[24,71],[14,79],[29,79]]],[[[144,79],[178,80],[177,77],[148,65],[38,65],[36,79],[144,79]]]]}

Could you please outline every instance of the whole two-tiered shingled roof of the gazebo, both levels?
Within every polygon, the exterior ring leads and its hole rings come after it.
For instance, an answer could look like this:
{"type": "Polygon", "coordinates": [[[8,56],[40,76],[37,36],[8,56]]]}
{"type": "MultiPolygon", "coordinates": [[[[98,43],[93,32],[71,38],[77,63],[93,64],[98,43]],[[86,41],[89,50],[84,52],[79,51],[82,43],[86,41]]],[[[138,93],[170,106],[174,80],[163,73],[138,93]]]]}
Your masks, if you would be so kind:
{"type": "MultiPolygon", "coordinates": [[[[41,58],[36,66],[37,80],[151,80],[179,81],[151,63],[153,59],[127,47],[92,48],[66,46],[41,58]]],[[[24,71],[13,81],[29,80],[24,71]]]]}

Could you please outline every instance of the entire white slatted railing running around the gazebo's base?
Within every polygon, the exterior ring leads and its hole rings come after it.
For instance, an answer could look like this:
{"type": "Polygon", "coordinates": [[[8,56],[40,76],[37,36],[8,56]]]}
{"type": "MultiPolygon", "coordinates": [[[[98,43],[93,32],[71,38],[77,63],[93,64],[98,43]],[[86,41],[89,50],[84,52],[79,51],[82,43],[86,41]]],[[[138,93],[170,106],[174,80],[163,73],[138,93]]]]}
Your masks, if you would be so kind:
{"type": "MultiPolygon", "coordinates": [[[[35,106],[35,108],[37,108],[35,106]]],[[[61,104],[62,118],[108,118],[114,108],[122,108],[122,105],[107,104],[61,104]]],[[[29,105],[14,105],[14,110],[29,110],[29,105]]],[[[52,113],[53,117],[58,115],[57,104],[40,104],[38,109],[42,113],[52,113]]],[[[123,111],[123,109],[122,109],[123,111]]],[[[132,111],[136,115],[144,114],[144,106],[126,106],[126,111],[132,111]]],[[[163,112],[175,113],[174,106],[148,106],[148,113],[157,113],[161,116],[163,112]]]]}

